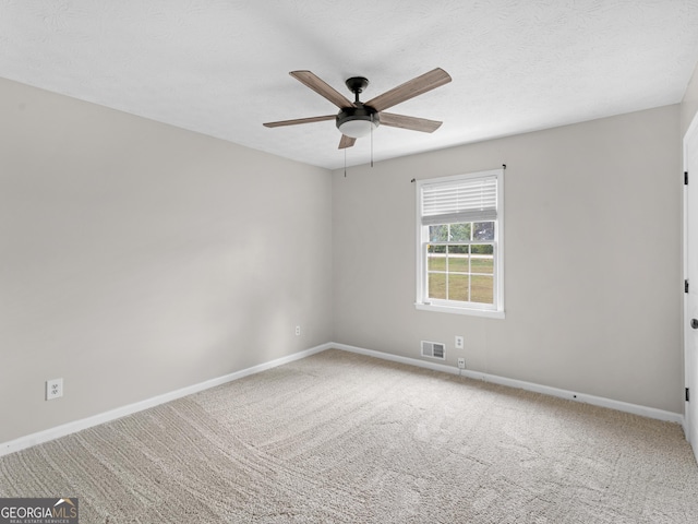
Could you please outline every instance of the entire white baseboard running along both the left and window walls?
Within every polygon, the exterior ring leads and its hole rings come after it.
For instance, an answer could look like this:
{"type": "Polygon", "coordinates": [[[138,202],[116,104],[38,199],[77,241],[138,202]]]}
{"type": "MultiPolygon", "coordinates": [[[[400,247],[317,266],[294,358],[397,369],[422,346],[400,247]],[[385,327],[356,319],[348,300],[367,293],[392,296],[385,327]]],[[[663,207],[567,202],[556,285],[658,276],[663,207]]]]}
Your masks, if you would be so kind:
{"type": "Polygon", "coordinates": [[[477,371],[465,370],[465,369],[460,370],[454,366],[446,366],[444,364],[429,362],[429,361],[419,360],[416,358],[401,357],[398,355],[375,352],[373,349],[364,349],[362,347],[349,346],[346,344],[327,343],[327,344],[322,344],[320,346],[306,349],[304,352],[294,353],[293,355],[289,355],[287,357],[277,358],[276,360],[272,360],[269,362],[261,364],[258,366],[253,366],[248,369],[236,371],[234,373],[207,380],[205,382],[190,385],[188,388],[182,388],[181,390],[154,396],[145,401],[136,402],[134,404],[129,404],[127,406],[122,406],[117,409],[112,409],[106,413],[94,415],[92,417],[83,418],[81,420],[75,420],[73,422],[68,422],[61,426],[57,426],[55,428],[50,428],[44,431],[28,434],[26,437],[21,437],[16,440],[2,442],[0,443],[0,456],[8,455],[16,451],[21,451],[36,444],[48,442],[50,440],[58,439],[67,434],[71,434],[76,431],[81,431],[83,429],[92,428],[94,426],[98,426],[100,424],[108,422],[110,420],[116,420],[117,418],[121,418],[127,415],[131,415],[133,413],[142,412],[144,409],[148,409],[151,407],[155,407],[160,404],[165,404],[166,402],[174,401],[177,398],[181,398],[183,396],[191,395],[193,393],[198,393],[200,391],[204,391],[209,388],[215,388],[217,385],[225,384],[227,382],[232,382],[233,380],[238,380],[244,377],[249,377],[251,374],[260,373],[262,371],[266,371],[267,369],[276,368],[277,366],[282,366],[285,364],[300,360],[302,358],[310,357],[311,355],[315,355],[317,353],[322,353],[326,349],[332,349],[332,348],[341,349],[344,352],[357,353],[360,355],[366,355],[370,357],[376,357],[383,360],[390,360],[394,362],[407,364],[409,366],[417,366],[420,368],[431,369],[434,371],[441,371],[441,372],[450,373],[450,374],[459,374],[462,377],[468,377],[470,379],[482,380],[484,382],[492,382],[501,385],[507,385],[509,388],[518,388],[521,390],[532,391],[535,393],[542,393],[551,396],[557,396],[557,397],[567,398],[570,401],[583,402],[587,404],[592,404],[594,406],[609,407],[611,409],[616,409],[618,412],[631,413],[634,415],[640,415],[643,417],[654,418],[658,420],[677,422],[685,427],[684,416],[679,413],[665,412],[663,409],[639,406],[636,404],[628,404],[626,402],[613,401],[611,398],[587,395],[583,393],[575,393],[573,391],[561,390],[557,388],[550,388],[546,385],[540,385],[532,382],[525,382],[521,380],[497,377],[495,374],[480,373],[477,371]]]}

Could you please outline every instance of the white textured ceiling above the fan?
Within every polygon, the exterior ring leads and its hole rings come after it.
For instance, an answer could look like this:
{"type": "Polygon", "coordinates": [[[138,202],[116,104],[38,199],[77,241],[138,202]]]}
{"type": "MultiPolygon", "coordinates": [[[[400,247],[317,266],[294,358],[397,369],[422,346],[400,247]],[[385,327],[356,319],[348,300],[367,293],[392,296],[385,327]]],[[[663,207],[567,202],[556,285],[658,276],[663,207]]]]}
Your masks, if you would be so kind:
{"type": "MultiPolygon", "coordinates": [[[[0,76],[327,168],[337,108],[289,76],[362,99],[436,67],[453,82],[392,107],[375,160],[681,102],[696,0],[0,0],[0,76]]],[[[370,160],[371,140],[347,150],[370,160]]]]}

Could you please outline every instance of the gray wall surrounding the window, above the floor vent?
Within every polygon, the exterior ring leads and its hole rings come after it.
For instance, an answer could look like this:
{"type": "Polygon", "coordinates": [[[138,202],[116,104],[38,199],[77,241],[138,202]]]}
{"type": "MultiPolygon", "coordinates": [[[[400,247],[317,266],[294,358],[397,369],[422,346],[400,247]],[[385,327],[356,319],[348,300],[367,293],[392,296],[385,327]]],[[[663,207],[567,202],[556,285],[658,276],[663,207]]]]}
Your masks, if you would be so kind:
{"type": "Polygon", "coordinates": [[[683,413],[679,127],[675,105],[335,171],[335,342],[683,413]],[[502,164],[506,319],[417,311],[410,180],[502,164]]]}

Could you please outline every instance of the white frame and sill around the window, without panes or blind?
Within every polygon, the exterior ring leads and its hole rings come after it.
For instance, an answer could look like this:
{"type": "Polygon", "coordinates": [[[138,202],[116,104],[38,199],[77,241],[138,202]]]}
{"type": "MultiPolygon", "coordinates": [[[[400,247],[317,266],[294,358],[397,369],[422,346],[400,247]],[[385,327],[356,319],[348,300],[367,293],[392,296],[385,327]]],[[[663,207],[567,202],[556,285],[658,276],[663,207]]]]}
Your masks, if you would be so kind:
{"type": "MultiPolygon", "coordinates": [[[[492,213],[490,211],[490,213],[492,213]]],[[[477,214],[477,212],[476,212],[477,214]]],[[[492,219],[492,218],[489,218],[492,219]]],[[[465,221],[464,221],[465,222],[465,221]]],[[[469,222],[469,221],[468,221],[469,222]]],[[[473,219],[472,222],[478,222],[473,219]]],[[[454,222],[454,224],[457,222],[454,222]]],[[[444,313],[470,314],[476,317],[489,317],[504,319],[504,169],[491,169],[486,171],[456,175],[419,180],[417,182],[417,300],[414,307],[423,311],[437,311],[444,313]],[[429,242],[429,225],[422,223],[423,191],[429,187],[447,186],[459,181],[473,181],[477,179],[496,179],[496,217],[494,218],[494,305],[479,305],[477,302],[464,302],[458,300],[430,299],[428,298],[428,267],[426,247],[429,242]]],[[[490,243],[483,242],[483,243],[490,243]]]]}

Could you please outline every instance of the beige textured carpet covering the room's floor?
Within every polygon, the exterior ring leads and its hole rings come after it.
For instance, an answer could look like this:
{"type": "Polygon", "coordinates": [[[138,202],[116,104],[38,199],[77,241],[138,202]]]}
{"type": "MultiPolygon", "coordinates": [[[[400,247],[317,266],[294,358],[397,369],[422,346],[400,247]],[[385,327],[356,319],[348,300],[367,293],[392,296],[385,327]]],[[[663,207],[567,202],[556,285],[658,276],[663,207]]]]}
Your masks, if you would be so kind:
{"type": "Polygon", "coordinates": [[[679,426],[329,350],[0,458],[81,523],[696,523],[679,426]]]}

